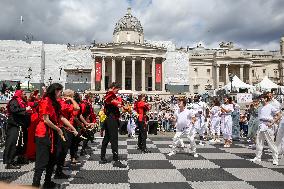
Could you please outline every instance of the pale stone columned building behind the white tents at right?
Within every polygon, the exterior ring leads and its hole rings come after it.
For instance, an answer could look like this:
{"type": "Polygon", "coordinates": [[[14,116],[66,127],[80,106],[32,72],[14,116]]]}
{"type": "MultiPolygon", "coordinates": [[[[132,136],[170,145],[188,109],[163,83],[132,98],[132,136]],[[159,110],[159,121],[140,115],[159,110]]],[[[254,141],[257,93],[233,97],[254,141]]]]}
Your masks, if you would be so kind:
{"type": "Polygon", "coordinates": [[[284,38],[280,40],[280,51],[240,49],[232,42],[220,43],[216,49],[198,44],[187,48],[189,56],[189,93],[203,93],[221,89],[236,75],[248,84],[259,83],[268,76],[277,84],[284,84],[284,38]]]}

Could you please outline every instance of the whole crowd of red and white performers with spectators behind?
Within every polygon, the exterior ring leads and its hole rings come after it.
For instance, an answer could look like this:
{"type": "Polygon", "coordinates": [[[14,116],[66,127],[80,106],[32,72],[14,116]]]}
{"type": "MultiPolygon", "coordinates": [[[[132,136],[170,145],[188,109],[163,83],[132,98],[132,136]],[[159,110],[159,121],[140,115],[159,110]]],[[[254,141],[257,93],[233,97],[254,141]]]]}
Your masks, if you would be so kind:
{"type": "Polygon", "coordinates": [[[169,156],[175,155],[177,148],[187,147],[194,157],[198,157],[197,136],[198,145],[223,143],[225,148],[232,145],[233,139],[244,138],[256,148],[256,157],[251,160],[254,162],[261,161],[265,141],[275,165],[278,165],[278,156],[284,149],[281,105],[271,92],[256,97],[241,111],[230,96],[206,103],[198,95],[190,98],[172,96],[164,100],[145,94],[120,95],[119,86],[114,82],[100,98],[99,95],[82,95],[69,89],[63,91],[62,85],[53,83],[48,88],[43,87],[42,95],[39,90],[34,90],[29,97],[23,90],[15,91],[7,109],[1,109],[1,117],[1,128],[5,128],[5,168],[20,169],[22,164],[35,161],[32,185],[40,187],[45,171],[43,188],[58,186],[51,180],[55,167],[54,178],[69,178],[62,171],[67,154],[70,153],[71,165],[80,163],[79,157],[87,154],[88,143],[94,141],[94,134],[98,131],[104,137],[100,163],[109,163],[105,155],[110,143],[113,166],[127,167],[118,156],[121,119],[128,122],[128,136],[138,137],[137,149],[141,153],[151,153],[146,146],[150,120],[157,123],[161,132],[175,132],[169,156]],[[187,146],[183,136],[189,140],[187,146]]]}

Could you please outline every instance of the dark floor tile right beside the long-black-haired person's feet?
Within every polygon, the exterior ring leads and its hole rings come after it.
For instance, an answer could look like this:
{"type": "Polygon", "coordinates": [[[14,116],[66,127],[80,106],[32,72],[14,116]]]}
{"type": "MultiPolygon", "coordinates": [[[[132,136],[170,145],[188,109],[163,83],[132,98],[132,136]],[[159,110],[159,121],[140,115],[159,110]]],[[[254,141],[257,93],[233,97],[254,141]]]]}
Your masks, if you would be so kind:
{"type": "Polygon", "coordinates": [[[128,183],[128,170],[82,170],[71,184],[128,183]]]}

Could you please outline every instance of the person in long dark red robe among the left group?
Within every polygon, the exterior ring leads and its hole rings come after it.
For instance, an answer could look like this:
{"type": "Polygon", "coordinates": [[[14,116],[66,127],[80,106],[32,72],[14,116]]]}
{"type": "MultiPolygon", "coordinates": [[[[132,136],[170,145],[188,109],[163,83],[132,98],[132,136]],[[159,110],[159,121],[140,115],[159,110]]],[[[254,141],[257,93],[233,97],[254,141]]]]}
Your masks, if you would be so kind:
{"type": "Polygon", "coordinates": [[[39,111],[39,90],[34,90],[29,99],[28,99],[28,106],[32,107],[31,111],[31,122],[30,126],[28,127],[28,139],[27,139],[27,146],[25,152],[25,157],[28,160],[35,160],[36,155],[36,146],[35,146],[35,129],[37,124],[39,123],[38,111],[39,111]]]}

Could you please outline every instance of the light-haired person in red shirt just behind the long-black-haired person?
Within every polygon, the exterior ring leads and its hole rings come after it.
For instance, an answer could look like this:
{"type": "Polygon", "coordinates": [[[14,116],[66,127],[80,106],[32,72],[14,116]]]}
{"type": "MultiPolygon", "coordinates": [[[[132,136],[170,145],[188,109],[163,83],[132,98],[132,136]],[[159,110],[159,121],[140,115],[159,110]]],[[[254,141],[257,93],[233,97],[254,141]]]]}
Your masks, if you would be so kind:
{"type": "Polygon", "coordinates": [[[61,130],[63,131],[64,137],[66,139],[66,142],[58,141],[58,144],[57,144],[57,152],[56,152],[57,163],[56,163],[56,171],[54,175],[55,179],[68,179],[70,177],[69,175],[64,174],[62,171],[65,158],[68,153],[68,149],[70,149],[71,159],[75,157],[73,149],[70,148],[72,141],[76,137],[74,136],[74,130],[76,129],[73,127],[73,124],[74,124],[73,112],[80,110],[80,107],[77,104],[77,102],[73,99],[73,97],[74,97],[74,91],[70,89],[66,89],[63,92],[63,98],[60,98],[58,100],[61,105],[62,115],[70,122],[71,125],[65,125],[64,123],[60,124],[61,130]]]}

